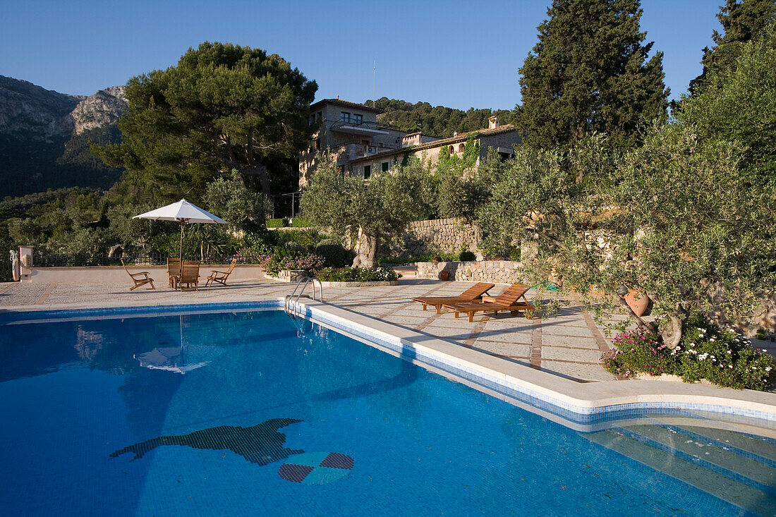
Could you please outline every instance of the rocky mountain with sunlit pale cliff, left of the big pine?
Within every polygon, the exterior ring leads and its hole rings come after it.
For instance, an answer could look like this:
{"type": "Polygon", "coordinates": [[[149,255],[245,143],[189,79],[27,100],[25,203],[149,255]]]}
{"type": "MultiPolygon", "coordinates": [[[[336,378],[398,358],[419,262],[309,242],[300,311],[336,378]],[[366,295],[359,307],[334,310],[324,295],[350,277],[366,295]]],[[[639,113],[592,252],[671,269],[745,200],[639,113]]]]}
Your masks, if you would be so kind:
{"type": "Polygon", "coordinates": [[[118,141],[123,86],[67,95],[0,75],[0,198],[70,186],[108,188],[120,170],[88,142],[118,141]]]}

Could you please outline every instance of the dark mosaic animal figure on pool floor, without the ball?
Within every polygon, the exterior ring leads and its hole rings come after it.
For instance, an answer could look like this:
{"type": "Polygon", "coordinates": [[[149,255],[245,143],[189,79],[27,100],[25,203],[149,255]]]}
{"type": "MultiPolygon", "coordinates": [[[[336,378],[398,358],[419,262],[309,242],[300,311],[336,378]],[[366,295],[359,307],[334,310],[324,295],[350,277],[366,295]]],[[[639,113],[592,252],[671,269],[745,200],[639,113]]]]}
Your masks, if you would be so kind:
{"type": "Polygon", "coordinates": [[[116,458],[124,453],[134,453],[133,460],[142,458],[158,446],[179,445],[195,449],[230,450],[243,456],[251,463],[266,465],[278,460],[284,460],[292,454],[301,454],[302,449],[286,449],[286,435],[278,432],[281,427],[302,422],[296,418],[272,418],[253,427],[234,427],[220,425],[210,429],[190,432],[188,435],[159,436],[145,442],[135,443],[123,449],[110,453],[116,458]]]}

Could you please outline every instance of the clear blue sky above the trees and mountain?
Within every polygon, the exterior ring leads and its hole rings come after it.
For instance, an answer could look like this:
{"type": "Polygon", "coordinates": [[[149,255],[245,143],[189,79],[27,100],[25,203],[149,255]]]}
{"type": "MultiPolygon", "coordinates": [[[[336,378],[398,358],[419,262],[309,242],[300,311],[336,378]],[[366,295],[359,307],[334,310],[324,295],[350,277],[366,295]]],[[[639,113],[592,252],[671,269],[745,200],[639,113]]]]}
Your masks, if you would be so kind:
{"type": "MultiPolygon", "coordinates": [[[[91,95],[210,41],[260,47],[340,95],[511,109],[551,0],[513,2],[65,2],[0,0],[0,75],[91,95]]],[[[701,71],[722,0],[642,0],[671,97],[701,71]]]]}

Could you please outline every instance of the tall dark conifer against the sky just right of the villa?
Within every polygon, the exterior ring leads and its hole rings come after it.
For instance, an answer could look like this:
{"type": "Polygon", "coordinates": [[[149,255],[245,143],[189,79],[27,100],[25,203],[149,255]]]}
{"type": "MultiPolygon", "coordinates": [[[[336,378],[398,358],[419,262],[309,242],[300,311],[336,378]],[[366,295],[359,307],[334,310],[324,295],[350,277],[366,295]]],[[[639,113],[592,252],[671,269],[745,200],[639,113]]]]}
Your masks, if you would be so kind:
{"type": "Polygon", "coordinates": [[[526,143],[567,147],[593,133],[636,144],[637,128],[665,120],[663,53],[639,31],[639,0],[553,0],[539,43],[520,69],[526,143]]]}

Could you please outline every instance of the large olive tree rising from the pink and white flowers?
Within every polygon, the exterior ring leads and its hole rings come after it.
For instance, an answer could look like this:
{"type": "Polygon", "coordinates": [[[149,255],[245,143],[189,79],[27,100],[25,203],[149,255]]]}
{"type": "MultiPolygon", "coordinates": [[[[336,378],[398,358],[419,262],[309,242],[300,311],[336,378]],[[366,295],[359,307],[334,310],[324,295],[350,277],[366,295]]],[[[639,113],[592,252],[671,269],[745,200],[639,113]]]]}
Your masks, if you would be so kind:
{"type": "Polygon", "coordinates": [[[693,311],[750,314],[776,283],[776,196],[740,173],[743,148],[695,127],[654,127],[618,167],[615,217],[633,232],[608,266],[647,293],[668,345],[693,311]]]}

